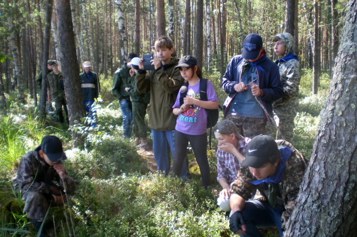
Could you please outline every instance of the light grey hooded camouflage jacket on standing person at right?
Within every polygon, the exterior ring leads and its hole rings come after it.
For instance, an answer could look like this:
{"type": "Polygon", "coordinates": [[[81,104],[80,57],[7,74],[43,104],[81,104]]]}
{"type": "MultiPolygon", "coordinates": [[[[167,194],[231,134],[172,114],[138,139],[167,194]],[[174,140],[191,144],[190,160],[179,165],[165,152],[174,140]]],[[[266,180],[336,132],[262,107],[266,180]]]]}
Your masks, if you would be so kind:
{"type": "MultiPolygon", "coordinates": [[[[294,39],[291,34],[280,33],[277,34],[285,47],[284,56],[293,52],[294,39]]],[[[284,94],[283,98],[274,103],[274,107],[286,106],[291,104],[297,106],[299,104],[299,85],[301,78],[301,67],[300,63],[296,59],[291,59],[288,61],[277,60],[276,63],[279,66],[280,80],[283,84],[284,94]]]]}

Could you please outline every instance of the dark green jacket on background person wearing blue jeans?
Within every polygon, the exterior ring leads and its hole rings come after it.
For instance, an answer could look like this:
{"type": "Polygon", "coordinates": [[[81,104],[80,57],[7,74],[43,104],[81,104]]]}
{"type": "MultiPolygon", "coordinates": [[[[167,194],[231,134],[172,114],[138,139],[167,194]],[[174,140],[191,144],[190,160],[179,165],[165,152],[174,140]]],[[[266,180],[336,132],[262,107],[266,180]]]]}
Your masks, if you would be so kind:
{"type": "Polygon", "coordinates": [[[113,93],[115,99],[118,99],[119,101],[122,99],[130,100],[129,93],[125,91],[125,87],[130,87],[129,71],[130,68],[126,66],[126,63],[124,63],[123,67],[114,73],[111,92],[113,93]]]}

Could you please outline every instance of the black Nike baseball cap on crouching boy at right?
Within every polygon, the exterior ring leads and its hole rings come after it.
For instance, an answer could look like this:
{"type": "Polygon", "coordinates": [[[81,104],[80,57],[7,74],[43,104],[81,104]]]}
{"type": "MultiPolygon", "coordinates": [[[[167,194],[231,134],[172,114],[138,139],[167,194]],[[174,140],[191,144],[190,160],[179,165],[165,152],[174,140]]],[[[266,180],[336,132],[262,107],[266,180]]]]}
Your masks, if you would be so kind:
{"type": "Polygon", "coordinates": [[[252,138],[247,145],[247,154],[242,166],[260,168],[268,162],[269,157],[279,155],[275,140],[267,135],[258,135],[252,138]]]}

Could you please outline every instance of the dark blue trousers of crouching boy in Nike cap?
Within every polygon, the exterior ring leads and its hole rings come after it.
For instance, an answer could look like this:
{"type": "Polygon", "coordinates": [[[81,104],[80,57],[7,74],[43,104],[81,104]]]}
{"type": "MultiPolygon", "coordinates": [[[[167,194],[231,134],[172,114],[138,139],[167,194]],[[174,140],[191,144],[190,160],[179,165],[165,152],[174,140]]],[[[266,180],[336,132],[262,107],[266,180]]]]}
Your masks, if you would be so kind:
{"type": "Polygon", "coordinates": [[[275,207],[270,207],[269,202],[261,202],[252,200],[246,202],[243,208],[243,217],[246,221],[246,235],[240,237],[263,237],[258,228],[278,227],[280,236],[283,236],[282,231],[282,215],[283,210],[275,207]]]}

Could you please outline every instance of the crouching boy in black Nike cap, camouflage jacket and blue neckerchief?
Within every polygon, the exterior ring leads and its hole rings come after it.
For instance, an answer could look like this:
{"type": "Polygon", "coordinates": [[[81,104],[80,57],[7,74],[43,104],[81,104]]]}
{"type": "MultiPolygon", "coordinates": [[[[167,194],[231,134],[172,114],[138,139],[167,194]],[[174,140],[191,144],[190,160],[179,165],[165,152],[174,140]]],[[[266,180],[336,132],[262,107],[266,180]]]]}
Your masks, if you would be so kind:
{"type": "Polygon", "coordinates": [[[254,137],[231,185],[230,229],[243,237],[262,237],[257,228],[278,227],[283,236],[306,169],[304,156],[289,142],[254,137]],[[254,200],[246,201],[257,192],[254,200]]]}

